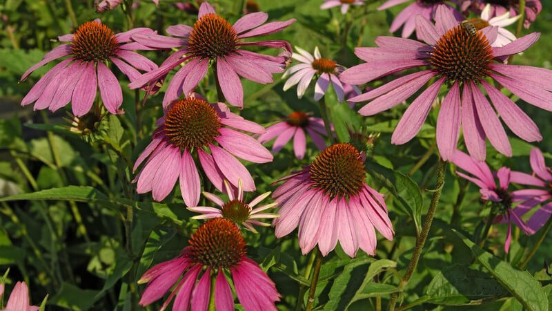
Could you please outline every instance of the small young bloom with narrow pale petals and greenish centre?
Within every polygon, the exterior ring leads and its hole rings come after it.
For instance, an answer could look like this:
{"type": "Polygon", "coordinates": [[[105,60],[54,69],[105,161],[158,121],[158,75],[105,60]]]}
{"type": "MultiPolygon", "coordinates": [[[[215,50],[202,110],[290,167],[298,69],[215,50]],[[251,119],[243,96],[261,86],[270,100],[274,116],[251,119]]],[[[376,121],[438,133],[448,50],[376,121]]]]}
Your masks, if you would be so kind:
{"type": "Polygon", "coordinates": [[[244,189],[242,187],[242,180],[238,180],[238,189],[237,194],[234,194],[233,188],[228,184],[228,181],[224,180],[224,187],[226,187],[226,194],[228,194],[228,202],[224,202],[215,194],[210,194],[209,192],[203,192],[203,195],[208,198],[211,202],[218,205],[220,208],[215,207],[206,207],[206,206],[197,206],[197,207],[188,207],[190,211],[195,211],[201,213],[199,216],[193,216],[193,219],[209,219],[209,218],[226,218],[232,220],[237,225],[243,225],[250,232],[257,233],[257,230],[253,225],[270,227],[269,223],[262,223],[259,219],[262,218],[278,218],[278,214],[273,213],[262,213],[267,209],[271,209],[278,205],[278,203],[270,203],[262,205],[253,209],[257,204],[259,204],[266,197],[270,196],[270,191],[257,198],[251,200],[251,202],[246,202],[244,200],[244,189]]]}

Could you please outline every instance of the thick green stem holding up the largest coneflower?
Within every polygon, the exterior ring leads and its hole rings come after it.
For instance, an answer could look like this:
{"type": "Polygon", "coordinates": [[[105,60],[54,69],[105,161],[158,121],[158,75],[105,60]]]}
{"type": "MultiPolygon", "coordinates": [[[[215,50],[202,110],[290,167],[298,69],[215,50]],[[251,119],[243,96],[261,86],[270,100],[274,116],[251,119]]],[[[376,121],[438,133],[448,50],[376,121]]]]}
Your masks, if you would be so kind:
{"type": "MultiPolygon", "coordinates": [[[[438,160],[437,162],[437,182],[435,185],[435,192],[433,192],[433,197],[431,198],[431,204],[429,205],[429,209],[426,214],[426,219],[424,220],[424,225],[422,226],[422,233],[420,234],[420,237],[416,239],[416,246],[414,248],[414,252],[412,253],[410,263],[408,263],[408,267],[406,268],[406,273],[402,277],[402,280],[399,283],[399,292],[404,291],[404,288],[406,288],[406,285],[408,285],[408,281],[410,281],[410,278],[414,274],[418,261],[420,261],[420,255],[422,254],[422,250],[424,249],[424,244],[426,243],[427,236],[429,234],[429,229],[431,229],[431,223],[433,223],[433,216],[435,216],[435,210],[437,209],[437,205],[439,205],[439,199],[441,198],[441,193],[443,191],[443,185],[444,185],[444,175],[445,175],[445,162],[443,160],[438,160]]],[[[395,310],[395,304],[397,303],[397,300],[399,299],[399,294],[393,294],[391,296],[391,300],[389,301],[389,307],[388,310],[392,311],[395,310]]]]}

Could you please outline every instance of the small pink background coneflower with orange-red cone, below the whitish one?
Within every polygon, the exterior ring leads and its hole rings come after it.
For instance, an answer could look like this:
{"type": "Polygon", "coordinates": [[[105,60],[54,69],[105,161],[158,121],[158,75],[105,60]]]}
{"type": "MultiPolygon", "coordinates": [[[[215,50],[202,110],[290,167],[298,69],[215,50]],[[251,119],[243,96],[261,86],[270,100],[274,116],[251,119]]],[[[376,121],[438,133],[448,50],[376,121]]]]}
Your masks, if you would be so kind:
{"type": "Polygon", "coordinates": [[[278,122],[266,129],[266,132],[259,136],[259,142],[274,141],[272,151],[278,152],[293,138],[293,151],[297,159],[301,160],[305,156],[306,136],[305,131],[311,136],[318,149],[326,148],[324,138],[319,134],[326,135],[324,121],[319,117],[311,117],[303,111],[294,111],[283,122],[278,122]]]}

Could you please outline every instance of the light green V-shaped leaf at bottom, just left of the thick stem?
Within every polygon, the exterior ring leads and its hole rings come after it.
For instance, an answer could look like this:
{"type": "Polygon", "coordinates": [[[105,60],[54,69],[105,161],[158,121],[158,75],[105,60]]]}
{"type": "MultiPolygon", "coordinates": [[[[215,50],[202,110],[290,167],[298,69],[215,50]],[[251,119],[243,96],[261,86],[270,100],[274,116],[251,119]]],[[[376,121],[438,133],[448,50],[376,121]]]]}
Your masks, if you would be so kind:
{"type": "Polygon", "coordinates": [[[389,259],[380,259],[379,261],[371,263],[370,267],[368,267],[366,276],[364,276],[364,281],[362,281],[362,284],[355,293],[355,296],[353,296],[353,299],[349,301],[348,305],[351,305],[351,303],[357,300],[377,296],[378,294],[390,294],[396,292],[398,289],[393,285],[373,282],[374,276],[392,267],[397,267],[397,263],[389,259]]]}

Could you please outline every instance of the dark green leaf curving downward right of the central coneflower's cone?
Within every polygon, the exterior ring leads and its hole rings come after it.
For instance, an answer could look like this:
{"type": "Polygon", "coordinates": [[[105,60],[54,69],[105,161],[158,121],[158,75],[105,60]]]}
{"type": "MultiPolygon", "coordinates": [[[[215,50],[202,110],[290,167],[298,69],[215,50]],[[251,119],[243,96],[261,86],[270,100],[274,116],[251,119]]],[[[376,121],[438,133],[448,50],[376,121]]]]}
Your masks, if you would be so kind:
{"type": "Polygon", "coordinates": [[[367,166],[368,173],[391,191],[400,207],[413,218],[417,232],[420,232],[424,199],[416,182],[403,173],[382,167],[375,162],[370,162],[367,166]]]}

